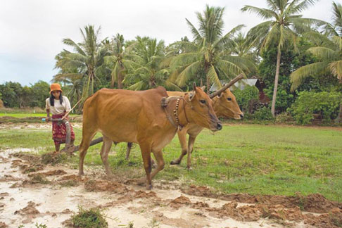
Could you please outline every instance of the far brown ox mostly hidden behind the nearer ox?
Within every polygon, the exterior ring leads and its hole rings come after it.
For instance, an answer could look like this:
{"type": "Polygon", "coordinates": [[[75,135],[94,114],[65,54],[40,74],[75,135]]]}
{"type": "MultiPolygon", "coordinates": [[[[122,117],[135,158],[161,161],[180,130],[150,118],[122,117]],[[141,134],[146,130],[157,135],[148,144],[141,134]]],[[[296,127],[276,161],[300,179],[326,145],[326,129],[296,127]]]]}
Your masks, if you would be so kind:
{"type": "MultiPolygon", "coordinates": [[[[184,96],[186,93],[179,91],[167,91],[169,96],[184,96]]],[[[240,120],[243,118],[243,113],[241,112],[238,103],[236,102],[234,94],[227,89],[222,91],[219,95],[213,98],[213,108],[218,117],[232,118],[235,120],[240,120]]],[[[190,169],[191,167],[191,153],[194,148],[194,143],[197,135],[202,131],[203,127],[196,125],[196,123],[189,123],[182,130],[178,130],[178,139],[182,147],[182,153],[176,160],[171,161],[171,165],[177,165],[181,163],[182,158],[188,154],[186,167],[190,169]],[[186,146],[186,134],[189,134],[189,142],[186,146]]],[[[129,152],[132,144],[127,144],[126,159],[129,158],[129,152]]]]}

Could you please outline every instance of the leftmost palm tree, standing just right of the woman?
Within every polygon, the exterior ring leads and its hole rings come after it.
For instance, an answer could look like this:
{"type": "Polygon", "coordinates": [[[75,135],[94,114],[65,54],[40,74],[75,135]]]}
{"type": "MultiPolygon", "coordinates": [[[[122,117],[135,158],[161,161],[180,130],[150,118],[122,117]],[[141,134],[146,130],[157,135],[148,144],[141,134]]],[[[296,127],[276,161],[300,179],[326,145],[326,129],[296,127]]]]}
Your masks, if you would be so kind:
{"type": "Polygon", "coordinates": [[[82,97],[94,94],[94,81],[96,80],[96,70],[103,61],[105,50],[101,49],[101,42],[98,41],[101,27],[95,31],[94,25],[87,25],[84,31],[80,29],[83,41],[74,42],[72,39],[63,39],[63,43],[71,46],[75,52],[63,50],[56,56],[56,68],[63,70],[56,75],[59,78],[81,77],[85,81],[82,89],[82,97]],[[77,72],[68,72],[65,69],[77,69],[77,72]]]}

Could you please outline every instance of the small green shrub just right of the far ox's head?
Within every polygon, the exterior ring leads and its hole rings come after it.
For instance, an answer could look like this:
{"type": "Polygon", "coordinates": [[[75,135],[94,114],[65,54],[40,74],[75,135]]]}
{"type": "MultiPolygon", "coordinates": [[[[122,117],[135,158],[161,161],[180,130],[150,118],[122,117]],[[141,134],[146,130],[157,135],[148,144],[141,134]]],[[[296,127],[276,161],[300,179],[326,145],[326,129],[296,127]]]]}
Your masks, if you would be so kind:
{"type": "Polygon", "coordinates": [[[236,102],[239,104],[241,110],[245,113],[248,112],[249,104],[253,100],[259,99],[259,90],[257,87],[246,85],[245,89],[236,89],[232,91],[236,102]]]}

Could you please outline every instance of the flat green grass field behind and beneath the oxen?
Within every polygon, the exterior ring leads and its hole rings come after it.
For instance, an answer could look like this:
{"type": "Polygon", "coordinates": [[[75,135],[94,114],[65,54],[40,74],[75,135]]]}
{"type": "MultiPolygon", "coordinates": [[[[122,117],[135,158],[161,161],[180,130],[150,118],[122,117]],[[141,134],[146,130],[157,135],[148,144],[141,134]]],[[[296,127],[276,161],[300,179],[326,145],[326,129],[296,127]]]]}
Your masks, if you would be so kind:
{"type": "MultiPolygon", "coordinates": [[[[80,144],[81,129],[75,128],[75,134],[75,144],[80,144]]],[[[1,130],[0,149],[4,148],[53,151],[51,129],[1,130]]],[[[100,148],[101,144],[89,148],[86,165],[102,165],[100,148]]],[[[143,176],[139,146],[134,146],[129,161],[125,160],[125,151],[124,143],[112,147],[109,159],[113,172],[127,177],[143,176]]],[[[169,165],[179,153],[176,136],[164,148],[166,165],[157,179],[213,186],[225,193],[320,193],[342,201],[341,128],[225,125],[214,135],[205,129],[198,136],[192,156],[193,170],[186,170],[186,157],[182,165],[169,165]]],[[[78,156],[68,162],[77,168],[78,156]]]]}

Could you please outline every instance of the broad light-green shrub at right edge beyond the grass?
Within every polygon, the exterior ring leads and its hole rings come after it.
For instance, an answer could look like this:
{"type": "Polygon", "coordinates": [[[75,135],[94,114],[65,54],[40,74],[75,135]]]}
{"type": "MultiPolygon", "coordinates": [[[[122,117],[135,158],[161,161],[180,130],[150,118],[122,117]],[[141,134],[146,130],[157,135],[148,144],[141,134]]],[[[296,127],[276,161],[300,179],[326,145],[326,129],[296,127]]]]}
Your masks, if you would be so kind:
{"type": "Polygon", "coordinates": [[[300,92],[289,112],[298,124],[308,125],[314,119],[314,114],[322,116],[324,122],[331,122],[338,115],[342,96],[338,92],[312,91],[300,92]]]}

